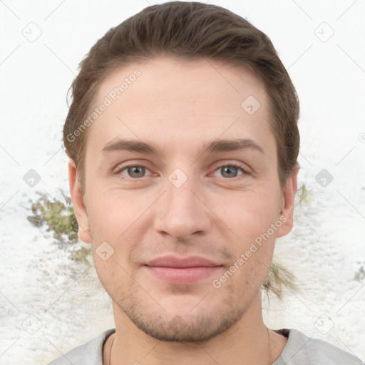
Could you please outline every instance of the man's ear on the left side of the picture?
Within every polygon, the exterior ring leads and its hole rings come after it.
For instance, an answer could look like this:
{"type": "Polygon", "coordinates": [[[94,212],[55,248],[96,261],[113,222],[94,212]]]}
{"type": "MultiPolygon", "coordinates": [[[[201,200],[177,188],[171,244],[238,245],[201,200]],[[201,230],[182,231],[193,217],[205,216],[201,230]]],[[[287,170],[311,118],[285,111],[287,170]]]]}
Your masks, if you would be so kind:
{"type": "Polygon", "coordinates": [[[73,210],[75,211],[76,220],[78,222],[78,237],[83,242],[91,243],[88,227],[88,213],[86,212],[86,206],[83,202],[83,192],[78,185],[76,165],[71,159],[68,162],[68,178],[70,180],[70,193],[73,210]]]}

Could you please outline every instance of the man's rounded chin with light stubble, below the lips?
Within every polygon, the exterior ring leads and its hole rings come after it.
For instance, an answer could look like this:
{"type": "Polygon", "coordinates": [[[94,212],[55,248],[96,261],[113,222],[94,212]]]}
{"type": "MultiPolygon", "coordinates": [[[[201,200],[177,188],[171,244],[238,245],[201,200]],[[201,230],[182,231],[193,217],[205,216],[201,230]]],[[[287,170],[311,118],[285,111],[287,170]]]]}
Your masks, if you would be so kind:
{"type": "Polygon", "coordinates": [[[134,292],[118,306],[135,327],[159,341],[205,342],[234,326],[247,310],[242,299],[229,296],[217,302],[205,294],[170,294],[155,302],[152,293],[146,300],[134,292]]]}

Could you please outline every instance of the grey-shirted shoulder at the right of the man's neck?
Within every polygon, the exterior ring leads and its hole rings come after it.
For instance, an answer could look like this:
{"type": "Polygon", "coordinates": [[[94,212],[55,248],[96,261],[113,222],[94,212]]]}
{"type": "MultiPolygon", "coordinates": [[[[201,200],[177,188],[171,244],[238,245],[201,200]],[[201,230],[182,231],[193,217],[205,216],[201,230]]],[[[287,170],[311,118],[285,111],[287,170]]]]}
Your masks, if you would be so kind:
{"type": "Polygon", "coordinates": [[[280,329],[287,345],[273,365],[364,365],[364,362],[326,341],[312,339],[296,329],[280,329]]]}

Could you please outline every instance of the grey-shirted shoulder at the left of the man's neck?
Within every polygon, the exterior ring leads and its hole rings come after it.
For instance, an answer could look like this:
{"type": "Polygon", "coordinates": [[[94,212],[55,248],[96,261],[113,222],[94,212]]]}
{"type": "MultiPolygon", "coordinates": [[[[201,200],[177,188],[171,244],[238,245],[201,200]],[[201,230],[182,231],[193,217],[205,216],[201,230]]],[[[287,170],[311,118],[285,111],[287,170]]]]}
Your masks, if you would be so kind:
{"type": "Polygon", "coordinates": [[[48,365],[102,365],[103,364],[103,344],[113,334],[115,329],[103,331],[91,341],[77,346],[66,354],[51,361],[48,365]]]}

